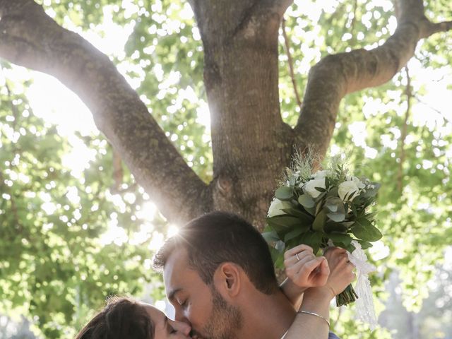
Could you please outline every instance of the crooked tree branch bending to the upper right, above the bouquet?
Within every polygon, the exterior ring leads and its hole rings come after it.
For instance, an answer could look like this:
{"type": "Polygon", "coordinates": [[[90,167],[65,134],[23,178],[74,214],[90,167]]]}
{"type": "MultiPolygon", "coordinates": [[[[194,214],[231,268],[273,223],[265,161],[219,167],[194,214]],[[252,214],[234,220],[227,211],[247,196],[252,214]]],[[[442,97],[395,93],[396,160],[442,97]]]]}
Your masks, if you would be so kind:
{"type": "Polygon", "coordinates": [[[357,90],[386,83],[414,55],[417,42],[434,32],[451,29],[449,23],[434,24],[424,16],[422,0],[396,4],[398,27],[380,47],[330,55],[309,72],[303,109],[295,127],[296,145],[311,145],[324,155],[331,140],[340,100],[357,90]]]}

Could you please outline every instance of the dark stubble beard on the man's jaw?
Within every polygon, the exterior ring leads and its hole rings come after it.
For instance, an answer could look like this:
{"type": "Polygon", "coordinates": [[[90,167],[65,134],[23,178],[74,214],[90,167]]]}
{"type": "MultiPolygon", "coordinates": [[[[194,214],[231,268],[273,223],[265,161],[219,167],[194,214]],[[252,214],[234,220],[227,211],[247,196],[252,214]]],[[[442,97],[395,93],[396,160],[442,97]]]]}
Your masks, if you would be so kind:
{"type": "Polygon", "coordinates": [[[237,331],[243,326],[242,312],[238,307],[226,302],[213,286],[212,314],[210,314],[203,333],[203,339],[235,339],[237,331]]]}

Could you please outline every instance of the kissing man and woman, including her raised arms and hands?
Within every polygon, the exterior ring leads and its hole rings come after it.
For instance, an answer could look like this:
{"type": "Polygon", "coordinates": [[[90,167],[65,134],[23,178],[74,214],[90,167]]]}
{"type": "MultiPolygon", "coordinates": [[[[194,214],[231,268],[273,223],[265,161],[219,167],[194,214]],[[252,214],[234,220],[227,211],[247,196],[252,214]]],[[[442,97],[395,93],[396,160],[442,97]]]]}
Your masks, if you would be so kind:
{"type": "Polygon", "coordinates": [[[107,306],[76,339],[327,339],[329,304],[355,280],[345,250],[316,257],[299,245],[285,252],[278,286],[266,241],[237,215],[192,220],[162,246],[162,271],[175,319],[126,297],[107,306]]]}

